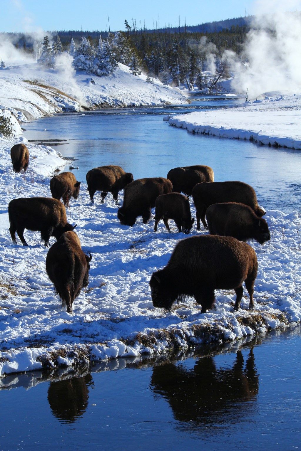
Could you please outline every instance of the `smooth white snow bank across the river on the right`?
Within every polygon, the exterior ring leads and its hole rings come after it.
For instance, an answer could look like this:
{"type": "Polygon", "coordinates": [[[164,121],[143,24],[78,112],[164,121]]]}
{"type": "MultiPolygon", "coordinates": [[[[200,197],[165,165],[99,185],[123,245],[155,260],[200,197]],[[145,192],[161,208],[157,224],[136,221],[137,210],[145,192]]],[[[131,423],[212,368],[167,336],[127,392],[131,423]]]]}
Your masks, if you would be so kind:
{"type": "Polygon", "coordinates": [[[275,147],[301,149],[301,94],[269,93],[261,100],[224,110],[206,110],[168,119],[190,133],[249,139],[275,147]]]}

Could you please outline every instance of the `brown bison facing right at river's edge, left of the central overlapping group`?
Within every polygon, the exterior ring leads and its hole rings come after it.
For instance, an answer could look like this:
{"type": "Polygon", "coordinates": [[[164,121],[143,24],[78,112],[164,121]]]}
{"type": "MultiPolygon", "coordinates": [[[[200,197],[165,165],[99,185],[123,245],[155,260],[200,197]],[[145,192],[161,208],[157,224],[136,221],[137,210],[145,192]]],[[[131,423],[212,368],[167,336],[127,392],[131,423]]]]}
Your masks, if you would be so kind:
{"type": "Polygon", "coordinates": [[[110,165],[89,170],[86,179],[91,202],[94,202],[94,193],[101,191],[101,203],[103,203],[107,193],[112,193],[113,199],[118,204],[119,191],[131,183],[134,177],[133,174],[125,172],[120,166],[110,165]]]}

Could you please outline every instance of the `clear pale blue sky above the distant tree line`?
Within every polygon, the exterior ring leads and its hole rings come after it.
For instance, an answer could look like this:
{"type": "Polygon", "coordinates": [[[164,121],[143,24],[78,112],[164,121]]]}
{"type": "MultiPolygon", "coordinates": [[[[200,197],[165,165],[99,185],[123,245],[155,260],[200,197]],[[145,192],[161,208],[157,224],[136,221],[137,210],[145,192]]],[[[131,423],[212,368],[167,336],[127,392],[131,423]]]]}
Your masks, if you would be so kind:
{"type": "Polygon", "coordinates": [[[3,0],[1,2],[0,32],[32,32],[46,30],[125,30],[125,19],[137,27],[160,28],[196,25],[214,20],[254,14],[252,0],[3,0]],[[192,5],[192,6],[190,6],[192,5]]]}

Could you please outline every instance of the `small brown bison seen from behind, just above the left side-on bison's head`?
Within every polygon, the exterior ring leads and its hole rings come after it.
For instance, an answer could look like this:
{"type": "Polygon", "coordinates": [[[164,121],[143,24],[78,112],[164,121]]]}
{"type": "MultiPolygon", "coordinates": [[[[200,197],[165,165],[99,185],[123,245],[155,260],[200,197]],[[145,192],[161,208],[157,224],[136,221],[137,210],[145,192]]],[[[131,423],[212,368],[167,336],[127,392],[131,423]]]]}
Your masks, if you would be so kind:
{"type": "Polygon", "coordinates": [[[77,199],[79,196],[80,184],[72,172],[62,172],[50,180],[51,196],[57,200],[63,198],[65,207],[69,207],[69,199],[77,199]]]}

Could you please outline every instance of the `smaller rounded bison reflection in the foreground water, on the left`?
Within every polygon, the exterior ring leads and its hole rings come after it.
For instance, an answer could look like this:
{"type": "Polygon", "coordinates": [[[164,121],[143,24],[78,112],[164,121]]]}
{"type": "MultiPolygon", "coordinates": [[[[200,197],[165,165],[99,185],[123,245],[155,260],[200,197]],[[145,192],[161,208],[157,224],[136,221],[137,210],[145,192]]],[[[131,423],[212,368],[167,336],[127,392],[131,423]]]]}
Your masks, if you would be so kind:
{"type": "Polygon", "coordinates": [[[72,423],[80,418],[87,409],[88,386],[92,384],[91,374],[51,382],[47,397],[56,418],[65,423],[72,423]]]}

